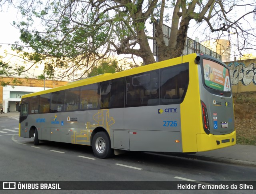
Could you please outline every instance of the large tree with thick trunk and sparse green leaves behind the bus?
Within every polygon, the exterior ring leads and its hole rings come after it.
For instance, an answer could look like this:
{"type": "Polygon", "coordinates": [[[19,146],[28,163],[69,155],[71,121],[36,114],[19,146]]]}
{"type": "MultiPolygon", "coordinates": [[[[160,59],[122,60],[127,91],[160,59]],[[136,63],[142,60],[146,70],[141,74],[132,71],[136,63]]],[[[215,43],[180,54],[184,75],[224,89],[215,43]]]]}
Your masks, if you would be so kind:
{"type": "Polygon", "coordinates": [[[241,53],[256,46],[255,28],[247,21],[247,16],[255,21],[255,0],[23,0],[18,8],[23,20],[14,25],[20,29],[21,42],[12,48],[32,48],[24,55],[36,62],[47,60],[45,71],[50,77],[56,67],[86,74],[97,60],[113,53],[154,63],[150,40],[157,42],[159,61],[178,57],[191,21],[205,24],[211,37],[235,33],[241,53]],[[35,25],[38,20],[42,26],[35,25]],[[164,23],[172,28],[168,46],[164,23]],[[150,24],[155,25],[155,36],[147,30],[150,24]]]}

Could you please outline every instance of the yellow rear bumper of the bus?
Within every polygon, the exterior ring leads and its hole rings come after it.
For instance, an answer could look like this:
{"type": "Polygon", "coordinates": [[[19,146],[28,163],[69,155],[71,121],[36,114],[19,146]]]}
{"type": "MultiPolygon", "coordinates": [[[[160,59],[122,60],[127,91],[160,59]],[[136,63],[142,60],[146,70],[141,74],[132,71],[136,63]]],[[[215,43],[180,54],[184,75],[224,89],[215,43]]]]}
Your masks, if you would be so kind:
{"type": "Polygon", "coordinates": [[[197,151],[204,152],[236,144],[236,131],[225,135],[197,134],[197,151]]]}

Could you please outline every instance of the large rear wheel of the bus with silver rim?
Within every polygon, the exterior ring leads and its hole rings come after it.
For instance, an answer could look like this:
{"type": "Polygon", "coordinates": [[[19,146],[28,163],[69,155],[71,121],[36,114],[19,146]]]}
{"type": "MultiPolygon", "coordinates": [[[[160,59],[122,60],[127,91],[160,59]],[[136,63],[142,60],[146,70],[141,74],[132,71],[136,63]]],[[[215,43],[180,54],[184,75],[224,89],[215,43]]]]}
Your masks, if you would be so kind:
{"type": "Polygon", "coordinates": [[[97,158],[109,158],[114,155],[110,138],[106,132],[98,132],[92,138],[92,150],[97,158]]]}

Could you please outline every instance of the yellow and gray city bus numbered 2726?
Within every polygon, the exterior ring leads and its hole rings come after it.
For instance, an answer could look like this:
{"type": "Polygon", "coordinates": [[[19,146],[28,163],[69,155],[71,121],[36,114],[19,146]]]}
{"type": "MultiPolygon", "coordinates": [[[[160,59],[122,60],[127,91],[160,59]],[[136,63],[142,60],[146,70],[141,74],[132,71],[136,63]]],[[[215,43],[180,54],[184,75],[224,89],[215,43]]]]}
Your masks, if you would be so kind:
{"type": "Polygon", "coordinates": [[[190,54],[26,94],[20,137],[127,151],[202,152],[236,144],[227,66],[190,54]]]}

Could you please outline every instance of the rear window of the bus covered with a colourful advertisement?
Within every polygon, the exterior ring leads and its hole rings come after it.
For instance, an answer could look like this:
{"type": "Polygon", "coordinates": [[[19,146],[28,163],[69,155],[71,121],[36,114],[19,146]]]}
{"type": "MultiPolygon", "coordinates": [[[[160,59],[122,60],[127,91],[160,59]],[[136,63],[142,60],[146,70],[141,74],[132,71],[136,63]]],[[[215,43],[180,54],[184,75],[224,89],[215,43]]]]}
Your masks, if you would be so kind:
{"type": "Polygon", "coordinates": [[[221,64],[214,61],[204,59],[204,83],[207,87],[229,92],[230,88],[230,77],[228,69],[221,64]]]}

